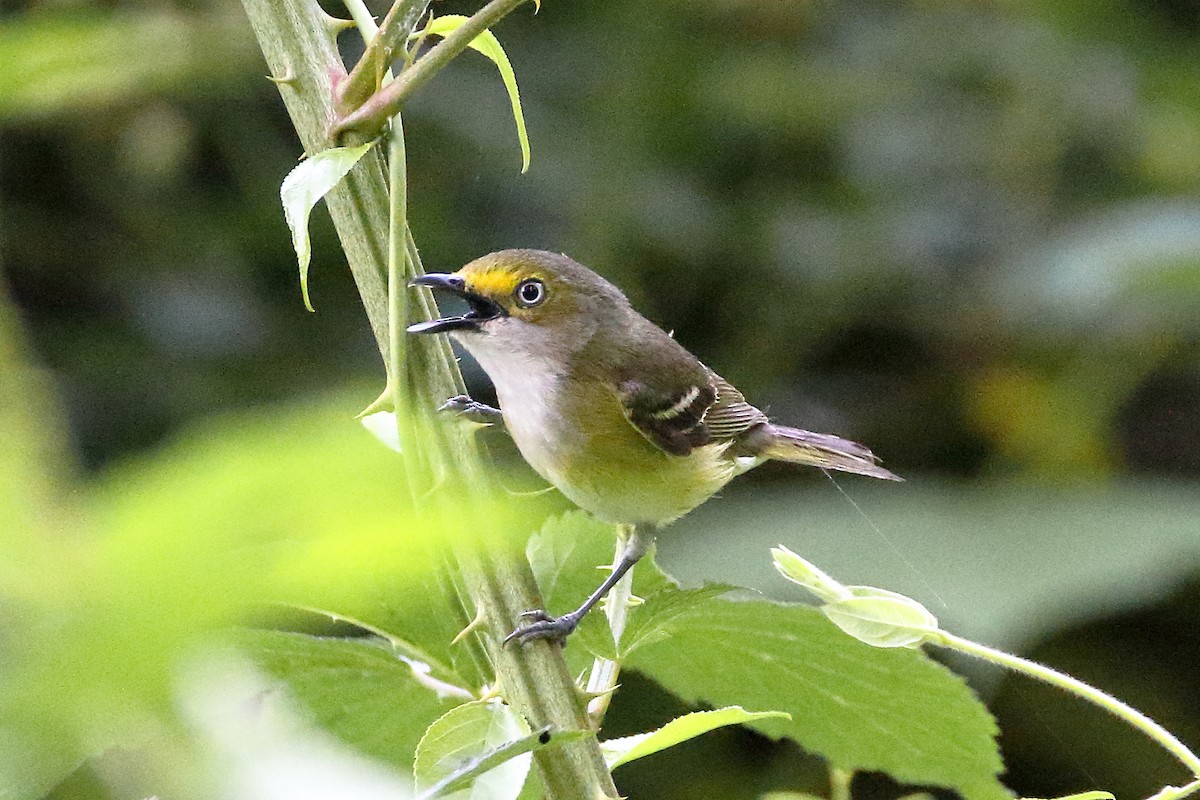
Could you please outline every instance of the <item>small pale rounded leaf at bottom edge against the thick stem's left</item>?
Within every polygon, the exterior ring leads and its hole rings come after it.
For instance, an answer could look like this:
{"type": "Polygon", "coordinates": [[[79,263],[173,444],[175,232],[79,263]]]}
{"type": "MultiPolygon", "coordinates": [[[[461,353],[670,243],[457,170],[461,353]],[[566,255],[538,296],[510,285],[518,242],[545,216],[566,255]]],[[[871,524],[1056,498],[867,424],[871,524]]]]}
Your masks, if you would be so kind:
{"type": "Polygon", "coordinates": [[[421,738],[413,769],[416,784],[428,790],[470,780],[468,790],[437,796],[516,800],[529,774],[529,752],[544,735],[532,733],[521,715],[498,700],[460,705],[438,717],[421,738]]]}

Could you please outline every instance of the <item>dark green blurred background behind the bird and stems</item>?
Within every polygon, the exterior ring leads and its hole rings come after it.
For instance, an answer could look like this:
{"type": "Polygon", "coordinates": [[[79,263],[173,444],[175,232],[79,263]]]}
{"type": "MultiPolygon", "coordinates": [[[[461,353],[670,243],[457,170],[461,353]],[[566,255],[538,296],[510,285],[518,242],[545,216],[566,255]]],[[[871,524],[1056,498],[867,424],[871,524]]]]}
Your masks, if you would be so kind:
{"type": "MultiPolygon", "coordinates": [[[[278,185],[300,151],[240,6],[0,7],[0,267],[61,410],[59,479],[152,464],[238,409],[370,402],[378,357],[323,213],[318,313],[299,300],[278,185]]],[[[766,555],[784,541],[1200,746],[1200,4],[546,0],[496,32],[533,167],[490,64],[439,74],[406,118],[426,266],[566,252],[778,419],[908,477],[839,477],[844,497],[763,468],[665,535],[664,566],[788,596],[766,555]]],[[[5,474],[32,480],[24,463],[5,474]]],[[[974,680],[1018,792],[1183,778],[1098,712],[974,680]]],[[[617,729],[665,708],[629,697],[617,729]]],[[[794,752],[738,733],[673,759],[623,788],[799,780],[794,752]]]]}

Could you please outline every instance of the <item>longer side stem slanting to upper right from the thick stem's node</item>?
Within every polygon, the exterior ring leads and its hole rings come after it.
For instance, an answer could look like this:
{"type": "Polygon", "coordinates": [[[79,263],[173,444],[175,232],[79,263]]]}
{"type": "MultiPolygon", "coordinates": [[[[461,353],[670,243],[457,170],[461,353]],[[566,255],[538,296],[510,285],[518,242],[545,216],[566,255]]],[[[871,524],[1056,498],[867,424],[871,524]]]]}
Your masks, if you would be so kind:
{"type": "Polygon", "coordinates": [[[342,114],[334,126],[332,137],[337,139],[353,133],[358,142],[368,142],[377,137],[414,91],[466,50],[476,36],[504,19],[522,2],[526,0],[492,0],[476,11],[428,53],[401,72],[395,80],[371,95],[353,112],[342,114]]]}

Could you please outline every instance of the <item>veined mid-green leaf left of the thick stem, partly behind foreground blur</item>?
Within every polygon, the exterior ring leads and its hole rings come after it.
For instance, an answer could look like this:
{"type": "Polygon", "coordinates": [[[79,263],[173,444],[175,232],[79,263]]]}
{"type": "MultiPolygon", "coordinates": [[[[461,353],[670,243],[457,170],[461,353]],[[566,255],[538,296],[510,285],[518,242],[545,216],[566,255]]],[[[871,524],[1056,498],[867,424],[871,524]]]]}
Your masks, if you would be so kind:
{"type": "Polygon", "coordinates": [[[239,650],[283,682],[324,730],[359,752],[413,766],[426,727],[456,704],[378,639],[241,631],[239,650]]]}

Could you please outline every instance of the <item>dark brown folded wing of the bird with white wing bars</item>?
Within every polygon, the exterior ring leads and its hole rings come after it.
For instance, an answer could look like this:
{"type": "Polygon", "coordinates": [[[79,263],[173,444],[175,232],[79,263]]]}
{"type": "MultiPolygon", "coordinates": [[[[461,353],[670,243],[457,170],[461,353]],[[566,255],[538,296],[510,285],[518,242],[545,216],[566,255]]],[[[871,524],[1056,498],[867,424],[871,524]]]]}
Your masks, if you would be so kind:
{"type": "Polygon", "coordinates": [[[708,367],[706,381],[654,387],[626,380],[618,387],[625,416],[637,431],[673,456],[710,441],[727,441],[767,421],[737,389],[708,367]]]}

